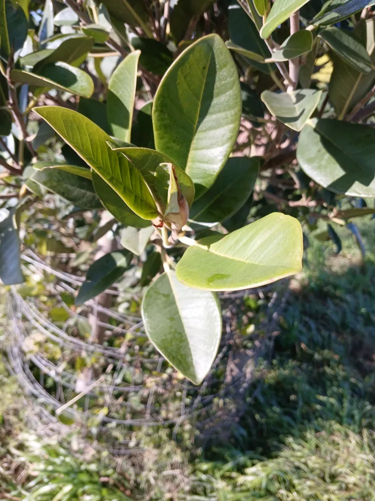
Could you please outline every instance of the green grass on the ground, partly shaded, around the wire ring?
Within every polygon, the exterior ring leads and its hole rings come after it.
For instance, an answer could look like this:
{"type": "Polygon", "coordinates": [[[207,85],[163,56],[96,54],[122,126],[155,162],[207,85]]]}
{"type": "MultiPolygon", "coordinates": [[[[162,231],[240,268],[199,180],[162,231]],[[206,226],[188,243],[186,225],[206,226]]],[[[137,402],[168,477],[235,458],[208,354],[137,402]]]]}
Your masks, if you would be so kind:
{"type": "MultiPolygon", "coordinates": [[[[198,436],[191,447],[194,430],[184,430],[178,444],[161,430],[145,437],[153,449],[140,468],[124,460],[117,469],[93,453],[88,465],[87,451],[71,454],[53,440],[40,444],[17,432],[10,443],[2,435],[4,499],[375,499],[374,225],[370,218],[359,225],[369,249],[365,263],[345,228],[338,257],[330,243],[310,239],[271,360],[259,364],[240,402],[223,403],[242,409],[228,432],[198,436]]],[[[246,304],[253,313],[254,305],[246,304]]],[[[10,414],[14,419],[14,410],[10,414]]]]}

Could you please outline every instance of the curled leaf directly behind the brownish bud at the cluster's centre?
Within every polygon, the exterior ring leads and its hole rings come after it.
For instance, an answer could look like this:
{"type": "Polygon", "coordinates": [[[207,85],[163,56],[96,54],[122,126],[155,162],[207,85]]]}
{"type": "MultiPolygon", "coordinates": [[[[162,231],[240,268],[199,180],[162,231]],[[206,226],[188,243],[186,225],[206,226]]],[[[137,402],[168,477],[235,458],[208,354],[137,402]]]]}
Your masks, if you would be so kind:
{"type": "MultiPolygon", "coordinates": [[[[142,173],[146,183],[157,199],[160,209],[163,211],[166,204],[169,170],[168,163],[172,163],[170,158],[147,148],[117,148],[130,160],[130,162],[142,173]]],[[[194,199],[194,185],[190,177],[177,165],[174,166],[178,179],[178,184],[182,195],[185,197],[188,205],[191,205],[194,199]]]]}

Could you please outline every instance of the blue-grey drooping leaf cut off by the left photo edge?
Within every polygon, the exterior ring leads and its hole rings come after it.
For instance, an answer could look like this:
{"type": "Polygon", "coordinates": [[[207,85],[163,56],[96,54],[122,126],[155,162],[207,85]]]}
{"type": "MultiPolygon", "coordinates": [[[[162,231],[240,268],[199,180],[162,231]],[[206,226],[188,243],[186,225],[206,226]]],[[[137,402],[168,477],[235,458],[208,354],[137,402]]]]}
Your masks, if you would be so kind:
{"type": "Polygon", "coordinates": [[[14,208],[0,208],[0,280],[4,285],[23,282],[14,212],[14,208]]]}

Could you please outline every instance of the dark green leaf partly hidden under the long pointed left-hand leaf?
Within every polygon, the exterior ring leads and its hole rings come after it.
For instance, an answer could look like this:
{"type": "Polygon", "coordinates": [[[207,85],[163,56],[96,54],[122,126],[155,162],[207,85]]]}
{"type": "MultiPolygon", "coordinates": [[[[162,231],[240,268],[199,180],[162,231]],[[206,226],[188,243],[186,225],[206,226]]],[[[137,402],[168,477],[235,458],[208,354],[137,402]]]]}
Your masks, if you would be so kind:
{"type": "Polygon", "coordinates": [[[92,182],[97,196],[104,207],[125,226],[144,228],[149,226],[149,220],[142,219],[133,212],[122,198],[102,179],[95,171],[92,171],[92,182]]]}

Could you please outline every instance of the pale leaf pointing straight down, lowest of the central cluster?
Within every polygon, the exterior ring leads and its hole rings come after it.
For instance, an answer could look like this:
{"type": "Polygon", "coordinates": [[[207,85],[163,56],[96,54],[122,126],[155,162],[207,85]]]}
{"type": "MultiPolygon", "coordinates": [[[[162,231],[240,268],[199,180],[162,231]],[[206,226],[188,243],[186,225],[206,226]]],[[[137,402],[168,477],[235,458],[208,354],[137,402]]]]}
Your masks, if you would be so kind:
{"type": "Polygon", "coordinates": [[[221,312],[215,296],[182,285],[172,271],[163,273],[143,297],[142,319],[149,340],[161,355],[199,384],[220,342],[221,312]]]}

